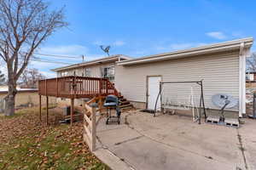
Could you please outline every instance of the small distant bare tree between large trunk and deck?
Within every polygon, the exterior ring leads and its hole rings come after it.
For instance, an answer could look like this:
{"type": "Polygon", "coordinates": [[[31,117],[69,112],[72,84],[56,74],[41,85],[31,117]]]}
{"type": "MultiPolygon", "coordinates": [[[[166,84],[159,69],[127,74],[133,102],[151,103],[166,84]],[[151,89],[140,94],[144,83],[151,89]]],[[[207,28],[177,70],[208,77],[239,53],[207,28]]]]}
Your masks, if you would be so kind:
{"type": "Polygon", "coordinates": [[[38,88],[38,80],[44,78],[38,69],[26,69],[20,76],[20,88],[38,88]]]}

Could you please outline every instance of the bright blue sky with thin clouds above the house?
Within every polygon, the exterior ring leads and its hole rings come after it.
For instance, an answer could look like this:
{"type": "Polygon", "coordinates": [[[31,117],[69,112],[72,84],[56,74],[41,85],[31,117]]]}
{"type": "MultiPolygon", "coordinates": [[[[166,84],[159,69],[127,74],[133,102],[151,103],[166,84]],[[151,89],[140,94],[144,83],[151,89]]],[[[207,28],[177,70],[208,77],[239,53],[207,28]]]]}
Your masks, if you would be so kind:
{"type": "MultiPolygon", "coordinates": [[[[65,6],[68,29],[55,32],[41,46],[42,54],[78,56],[56,59],[70,64],[104,56],[99,45],[111,45],[110,54],[139,57],[241,37],[256,37],[256,2],[236,0],[55,0],[65,6]]],[[[253,46],[252,51],[256,51],[253,46]]],[[[32,62],[48,76],[64,66],[32,62]]]]}

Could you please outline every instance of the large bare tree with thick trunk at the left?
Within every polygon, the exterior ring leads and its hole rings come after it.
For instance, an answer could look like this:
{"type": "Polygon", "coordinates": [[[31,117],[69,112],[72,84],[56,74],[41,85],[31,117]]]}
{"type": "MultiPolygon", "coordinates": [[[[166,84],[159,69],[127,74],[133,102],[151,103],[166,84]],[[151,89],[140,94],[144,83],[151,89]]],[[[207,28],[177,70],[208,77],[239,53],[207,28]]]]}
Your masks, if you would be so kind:
{"type": "Polygon", "coordinates": [[[15,114],[16,85],[32,54],[54,31],[67,26],[62,8],[44,0],[0,0],[0,56],[8,71],[6,116],[15,114]]]}

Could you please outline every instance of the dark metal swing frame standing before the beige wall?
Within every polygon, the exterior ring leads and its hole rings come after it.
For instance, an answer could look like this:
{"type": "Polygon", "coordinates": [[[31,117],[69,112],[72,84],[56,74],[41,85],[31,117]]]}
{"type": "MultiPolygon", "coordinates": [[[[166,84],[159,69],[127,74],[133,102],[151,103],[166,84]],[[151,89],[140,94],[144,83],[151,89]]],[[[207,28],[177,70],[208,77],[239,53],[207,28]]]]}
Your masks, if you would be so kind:
{"type": "MultiPolygon", "coordinates": [[[[156,113],[156,105],[157,105],[158,99],[161,97],[163,84],[175,84],[175,83],[196,83],[201,87],[199,119],[198,119],[198,124],[201,124],[201,109],[203,109],[205,119],[207,119],[207,111],[206,111],[206,107],[205,107],[204,92],[203,92],[203,80],[201,80],[201,81],[184,81],[184,82],[160,82],[159,94],[157,95],[155,105],[154,105],[154,116],[155,116],[155,113],[156,113]]],[[[161,107],[161,111],[162,111],[162,105],[160,105],[160,107],[161,107]]]]}

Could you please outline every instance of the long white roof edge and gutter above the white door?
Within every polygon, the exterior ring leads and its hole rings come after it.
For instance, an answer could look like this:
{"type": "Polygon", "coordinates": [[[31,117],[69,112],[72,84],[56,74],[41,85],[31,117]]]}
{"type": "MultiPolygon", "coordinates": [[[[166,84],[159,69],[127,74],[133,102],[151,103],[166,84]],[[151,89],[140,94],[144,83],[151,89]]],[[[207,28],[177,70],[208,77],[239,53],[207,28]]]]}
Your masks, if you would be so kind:
{"type": "Polygon", "coordinates": [[[189,48],[189,49],[174,51],[171,53],[148,55],[148,56],[136,58],[136,59],[125,59],[123,61],[119,61],[118,65],[137,65],[137,64],[161,61],[166,59],[179,59],[179,58],[191,57],[198,54],[211,54],[211,53],[222,52],[227,50],[234,50],[234,49],[241,48],[242,43],[244,45],[244,48],[250,48],[253,44],[253,37],[237,39],[229,42],[214,43],[214,44],[202,46],[199,48],[189,48]]]}

